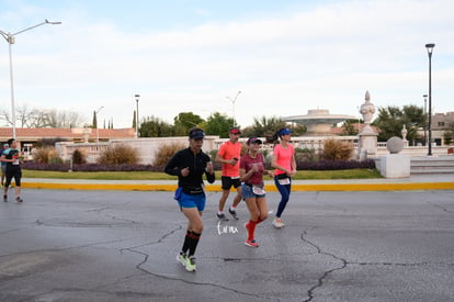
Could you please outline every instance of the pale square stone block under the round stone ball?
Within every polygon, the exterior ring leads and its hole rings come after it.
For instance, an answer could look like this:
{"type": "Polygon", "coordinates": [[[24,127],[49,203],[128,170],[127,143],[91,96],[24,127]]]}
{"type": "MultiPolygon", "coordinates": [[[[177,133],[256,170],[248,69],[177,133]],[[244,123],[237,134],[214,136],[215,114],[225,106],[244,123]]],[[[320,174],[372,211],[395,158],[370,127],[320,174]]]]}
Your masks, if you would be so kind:
{"type": "Polygon", "coordinates": [[[410,177],[410,157],[401,154],[381,156],[379,172],[386,178],[410,177]]]}

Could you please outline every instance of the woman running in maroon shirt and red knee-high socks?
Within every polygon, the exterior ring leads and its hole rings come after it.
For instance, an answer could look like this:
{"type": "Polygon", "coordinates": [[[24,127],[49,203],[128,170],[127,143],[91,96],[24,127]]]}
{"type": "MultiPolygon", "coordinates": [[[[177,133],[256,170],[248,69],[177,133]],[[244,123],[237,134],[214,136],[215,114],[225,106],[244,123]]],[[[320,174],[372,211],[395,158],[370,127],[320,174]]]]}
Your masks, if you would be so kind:
{"type": "Polygon", "coordinates": [[[250,220],[245,224],[248,231],[245,244],[259,247],[254,237],[256,226],[268,217],[263,175],[273,176],[273,174],[264,170],[263,155],[259,153],[262,141],[250,137],[247,144],[249,150],[240,161],[241,194],[250,213],[250,220]]]}

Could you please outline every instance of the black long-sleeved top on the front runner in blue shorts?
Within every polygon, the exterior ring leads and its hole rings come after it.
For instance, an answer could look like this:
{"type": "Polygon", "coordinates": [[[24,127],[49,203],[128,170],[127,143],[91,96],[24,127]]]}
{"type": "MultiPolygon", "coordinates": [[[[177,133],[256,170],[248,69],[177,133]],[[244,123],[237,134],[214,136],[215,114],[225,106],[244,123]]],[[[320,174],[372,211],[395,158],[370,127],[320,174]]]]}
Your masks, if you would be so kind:
{"type": "Polygon", "coordinates": [[[182,188],[184,192],[203,188],[202,176],[206,175],[206,180],[209,183],[215,181],[215,175],[206,171],[206,163],[211,158],[203,152],[194,154],[191,148],[179,150],[167,163],[164,172],[172,176],[178,176],[178,187],[182,188]],[[186,177],[181,176],[181,170],[189,167],[190,172],[186,177]]]}

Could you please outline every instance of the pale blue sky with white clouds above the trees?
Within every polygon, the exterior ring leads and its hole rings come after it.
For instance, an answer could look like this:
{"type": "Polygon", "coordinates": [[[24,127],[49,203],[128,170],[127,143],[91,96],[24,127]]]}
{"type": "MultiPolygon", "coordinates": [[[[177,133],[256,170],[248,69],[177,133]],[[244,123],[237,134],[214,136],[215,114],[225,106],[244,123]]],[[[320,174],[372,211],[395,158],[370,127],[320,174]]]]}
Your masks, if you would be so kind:
{"type": "MultiPolygon", "coordinates": [[[[253,118],[376,107],[454,111],[452,0],[0,0],[12,46],[16,105],[76,111],[129,127],[213,112],[253,118]],[[229,97],[230,100],[227,98],[229,97]]],[[[0,37],[0,109],[11,110],[8,43],[0,37]]]]}

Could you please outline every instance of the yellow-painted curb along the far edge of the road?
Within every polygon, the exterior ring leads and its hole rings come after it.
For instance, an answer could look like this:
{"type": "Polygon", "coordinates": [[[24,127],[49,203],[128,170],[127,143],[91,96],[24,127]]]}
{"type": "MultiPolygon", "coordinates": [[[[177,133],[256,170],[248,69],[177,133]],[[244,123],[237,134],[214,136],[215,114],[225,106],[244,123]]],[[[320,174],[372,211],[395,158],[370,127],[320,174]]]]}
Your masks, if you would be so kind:
{"type": "MultiPolygon", "coordinates": [[[[117,191],[174,191],[177,184],[127,184],[127,183],[52,183],[26,182],[22,188],[57,190],[117,190],[117,191]]],[[[206,191],[219,192],[219,184],[207,184],[206,191]]],[[[265,184],[265,191],[276,192],[274,184],[265,184]]],[[[454,182],[396,182],[396,183],[294,183],[292,191],[413,191],[454,190],[454,182]]]]}

